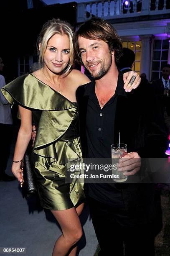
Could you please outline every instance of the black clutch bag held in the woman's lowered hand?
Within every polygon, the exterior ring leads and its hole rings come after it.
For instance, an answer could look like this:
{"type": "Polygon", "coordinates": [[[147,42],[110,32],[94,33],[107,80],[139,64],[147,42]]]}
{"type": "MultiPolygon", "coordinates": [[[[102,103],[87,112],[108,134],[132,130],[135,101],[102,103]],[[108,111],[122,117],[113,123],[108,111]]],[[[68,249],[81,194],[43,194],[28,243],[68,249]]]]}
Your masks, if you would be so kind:
{"type": "Polygon", "coordinates": [[[37,193],[37,184],[35,174],[30,163],[30,155],[25,153],[23,161],[23,184],[22,184],[23,197],[35,195],[37,193]]]}

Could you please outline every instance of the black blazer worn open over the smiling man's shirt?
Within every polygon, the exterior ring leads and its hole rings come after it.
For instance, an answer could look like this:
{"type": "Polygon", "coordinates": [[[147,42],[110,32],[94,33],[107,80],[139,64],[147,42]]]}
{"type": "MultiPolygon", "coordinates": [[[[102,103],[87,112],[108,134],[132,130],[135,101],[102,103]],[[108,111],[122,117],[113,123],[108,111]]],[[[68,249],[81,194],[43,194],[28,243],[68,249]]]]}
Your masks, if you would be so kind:
{"type": "MultiPolygon", "coordinates": [[[[87,156],[86,111],[89,96],[84,95],[94,81],[80,86],[76,91],[79,109],[80,137],[83,157],[87,156]]],[[[123,81],[122,81],[123,86],[123,81]]],[[[167,134],[164,121],[157,108],[155,98],[148,91],[148,84],[141,82],[137,89],[118,96],[115,116],[115,143],[121,133],[122,143],[128,152],[137,151],[141,157],[164,157],[167,134]]],[[[92,125],[92,123],[91,123],[92,125]]],[[[128,177],[129,178],[129,177],[128,177]]],[[[121,189],[124,205],[143,218],[143,223],[154,221],[155,234],[162,226],[160,195],[155,193],[154,184],[117,184],[121,189]]]]}

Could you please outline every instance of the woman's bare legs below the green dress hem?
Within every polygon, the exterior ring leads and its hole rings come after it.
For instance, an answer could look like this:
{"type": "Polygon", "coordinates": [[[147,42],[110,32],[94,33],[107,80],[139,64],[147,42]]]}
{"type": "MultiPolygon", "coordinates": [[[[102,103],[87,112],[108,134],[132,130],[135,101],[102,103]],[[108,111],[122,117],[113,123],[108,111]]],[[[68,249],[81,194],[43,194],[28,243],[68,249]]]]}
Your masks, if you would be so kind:
{"type": "MultiPolygon", "coordinates": [[[[57,239],[54,248],[53,256],[65,256],[70,251],[82,236],[82,228],[79,220],[79,215],[83,210],[84,204],[77,208],[73,207],[68,210],[52,210],[54,217],[61,226],[63,234],[57,239]]],[[[74,247],[69,253],[69,256],[76,255],[77,248],[74,247]]]]}

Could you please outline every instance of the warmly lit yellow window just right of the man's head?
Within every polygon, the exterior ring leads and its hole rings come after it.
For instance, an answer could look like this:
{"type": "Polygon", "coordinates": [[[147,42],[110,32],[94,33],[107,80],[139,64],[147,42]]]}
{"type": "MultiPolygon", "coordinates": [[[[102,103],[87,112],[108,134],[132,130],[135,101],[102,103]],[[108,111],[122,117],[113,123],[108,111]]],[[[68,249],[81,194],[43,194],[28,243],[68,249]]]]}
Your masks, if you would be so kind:
{"type": "Polygon", "coordinates": [[[140,56],[141,56],[141,50],[142,50],[141,41],[126,41],[126,42],[123,42],[123,47],[129,48],[132,51],[134,51],[135,61],[134,61],[134,66],[132,67],[132,70],[140,74],[140,56]]]}

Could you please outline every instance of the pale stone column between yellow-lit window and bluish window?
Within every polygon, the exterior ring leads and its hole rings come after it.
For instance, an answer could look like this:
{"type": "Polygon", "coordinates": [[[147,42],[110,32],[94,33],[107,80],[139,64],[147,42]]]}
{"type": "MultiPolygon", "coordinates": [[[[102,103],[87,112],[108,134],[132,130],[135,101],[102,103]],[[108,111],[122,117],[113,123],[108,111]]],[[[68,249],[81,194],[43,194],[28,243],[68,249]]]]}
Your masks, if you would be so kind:
{"type": "Polygon", "coordinates": [[[147,75],[147,79],[150,80],[150,59],[151,59],[151,36],[140,36],[142,41],[142,51],[140,57],[140,74],[145,73],[147,75]]]}

